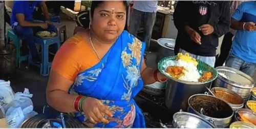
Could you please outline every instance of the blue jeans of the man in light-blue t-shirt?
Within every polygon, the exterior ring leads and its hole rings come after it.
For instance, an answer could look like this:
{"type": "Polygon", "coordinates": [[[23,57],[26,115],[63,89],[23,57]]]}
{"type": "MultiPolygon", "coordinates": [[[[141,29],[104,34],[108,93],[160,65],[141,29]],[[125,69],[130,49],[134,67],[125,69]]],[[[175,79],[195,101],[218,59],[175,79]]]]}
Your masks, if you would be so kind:
{"type": "Polygon", "coordinates": [[[226,67],[240,70],[252,77],[256,70],[256,63],[243,61],[242,59],[230,53],[226,60],[226,67]]]}

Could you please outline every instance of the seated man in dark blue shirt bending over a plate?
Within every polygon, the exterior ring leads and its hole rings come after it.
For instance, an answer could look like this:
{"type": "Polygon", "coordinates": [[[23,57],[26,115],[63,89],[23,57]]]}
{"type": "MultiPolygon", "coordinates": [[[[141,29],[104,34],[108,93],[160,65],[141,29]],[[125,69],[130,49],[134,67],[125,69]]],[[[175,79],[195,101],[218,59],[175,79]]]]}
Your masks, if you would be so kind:
{"type": "MultiPolygon", "coordinates": [[[[50,22],[47,6],[43,1],[14,1],[12,7],[11,26],[17,35],[22,35],[26,38],[32,59],[35,62],[40,62],[38,52],[35,46],[34,33],[38,31],[56,32],[56,28],[50,22]],[[33,19],[33,12],[37,5],[40,5],[42,12],[46,16],[46,22],[33,19]]],[[[53,46],[57,52],[57,46],[53,46]]]]}

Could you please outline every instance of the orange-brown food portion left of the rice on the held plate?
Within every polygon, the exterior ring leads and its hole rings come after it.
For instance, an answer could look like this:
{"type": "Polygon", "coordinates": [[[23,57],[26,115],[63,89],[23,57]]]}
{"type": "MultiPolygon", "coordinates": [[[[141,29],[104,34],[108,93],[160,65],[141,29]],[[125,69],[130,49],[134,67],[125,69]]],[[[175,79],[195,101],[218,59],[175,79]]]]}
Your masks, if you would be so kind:
{"type": "Polygon", "coordinates": [[[184,67],[169,66],[166,69],[166,73],[170,74],[173,78],[179,79],[184,75],[183,70],[185,70],[184,67]]]}

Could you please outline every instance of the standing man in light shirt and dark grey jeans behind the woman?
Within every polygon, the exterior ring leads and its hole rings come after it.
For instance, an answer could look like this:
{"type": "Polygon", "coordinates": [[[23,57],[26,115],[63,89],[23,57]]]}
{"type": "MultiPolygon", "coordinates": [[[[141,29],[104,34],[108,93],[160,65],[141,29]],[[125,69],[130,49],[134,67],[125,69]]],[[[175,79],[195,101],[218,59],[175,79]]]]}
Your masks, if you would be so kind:
{"type": "Polygon", "coordinates": [[[150,46],[151,34],[155,25],[157,1],[133,1],[129,32],[137,36],[141,20],[143,20],[146,49],[150,46]]]}

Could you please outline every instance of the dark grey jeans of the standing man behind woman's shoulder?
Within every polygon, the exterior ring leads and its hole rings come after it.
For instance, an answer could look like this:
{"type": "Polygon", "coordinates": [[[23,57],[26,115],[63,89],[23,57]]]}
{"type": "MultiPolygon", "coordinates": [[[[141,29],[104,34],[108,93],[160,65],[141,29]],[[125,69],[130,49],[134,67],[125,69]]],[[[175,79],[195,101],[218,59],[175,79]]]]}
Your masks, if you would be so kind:
{"type": "Polygon", "coordinates": [[[130,20],[131,23],[129,28],[129,32],[132,35],[137,36],[141,20],[143,20],[143,27],[144,27],[143,41],[146,42],[146,50],[147,50],[148,47],[150,47],[150,40],[151,40],[152,30],[155,25],[156,13],[142,12],[132,8],[131,20],[130,20]]]}

